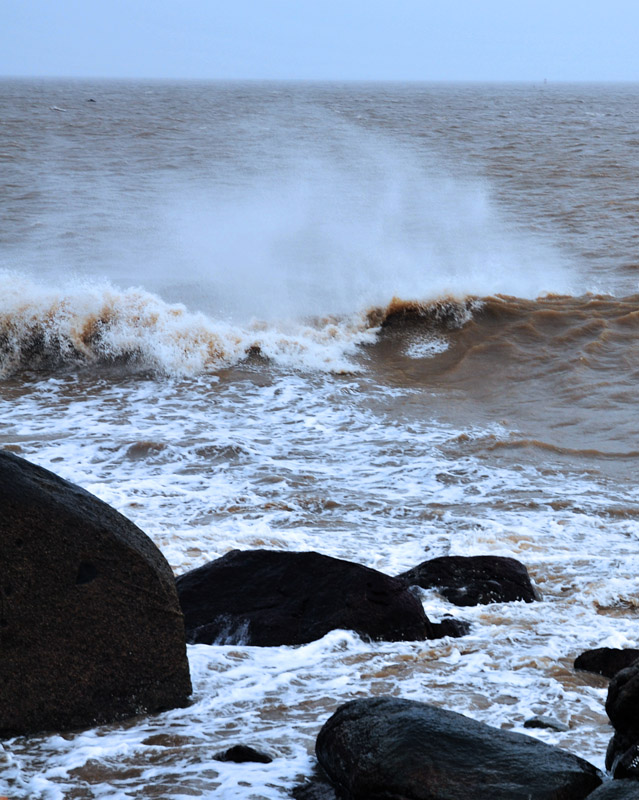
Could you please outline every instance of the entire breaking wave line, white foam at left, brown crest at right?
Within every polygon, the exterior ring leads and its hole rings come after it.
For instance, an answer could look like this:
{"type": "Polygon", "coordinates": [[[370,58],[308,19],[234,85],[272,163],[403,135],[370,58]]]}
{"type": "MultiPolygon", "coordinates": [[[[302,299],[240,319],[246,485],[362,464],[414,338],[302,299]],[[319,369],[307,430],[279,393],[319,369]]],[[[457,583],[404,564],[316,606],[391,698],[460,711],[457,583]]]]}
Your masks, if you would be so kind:
{"type": "Polygon", "coordinates": [[[54,289],[6,272],[0,290],[2,377],[108,364],[182,377],[256,356],[292,369],[354,372],[360,368],[354,357],[380,331],[408,325],[440,335],[466,330],[471,321],[466,337],[475,345],[486,338],[534,344],[550,336],[561,346],[587,340],[593,355],[611,340],[634,340],[639,325],[636,297],[391,298],[351,315],[238,325],[107,282],[54,289]]]}

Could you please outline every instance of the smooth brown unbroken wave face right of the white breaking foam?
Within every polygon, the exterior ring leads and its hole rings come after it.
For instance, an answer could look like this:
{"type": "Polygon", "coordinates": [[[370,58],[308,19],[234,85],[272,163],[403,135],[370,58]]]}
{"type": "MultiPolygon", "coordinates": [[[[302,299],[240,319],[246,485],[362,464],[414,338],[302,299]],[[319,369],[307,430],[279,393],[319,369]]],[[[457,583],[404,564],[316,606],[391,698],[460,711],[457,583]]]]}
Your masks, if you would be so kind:
{"type": "Polygon", "coordinates": [[[639,452],[639,295],[400,304],[382,323],[375,355],[376,382],[419,390],[438,418],[500,426],[482,449],[510,461],[623,470],[639,452]],[[445,346],[415,346],[428,337],[445,346]]]}

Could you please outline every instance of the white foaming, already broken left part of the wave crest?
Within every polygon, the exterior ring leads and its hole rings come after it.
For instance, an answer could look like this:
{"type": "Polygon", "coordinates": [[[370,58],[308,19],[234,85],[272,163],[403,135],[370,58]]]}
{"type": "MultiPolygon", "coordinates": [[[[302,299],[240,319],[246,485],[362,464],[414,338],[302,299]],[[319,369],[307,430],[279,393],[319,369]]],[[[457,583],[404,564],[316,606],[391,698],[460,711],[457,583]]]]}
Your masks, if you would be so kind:
{"type": "Polygon", "coordinates": [[[57,290],[0,275],[0,375],[64,365],[124,364],[185,376],[259,353],[293,368],[353,371],[349,356],[374,340],[365,316],[299,324],[213,320],[144,289],[110,284],[57,290]]]}

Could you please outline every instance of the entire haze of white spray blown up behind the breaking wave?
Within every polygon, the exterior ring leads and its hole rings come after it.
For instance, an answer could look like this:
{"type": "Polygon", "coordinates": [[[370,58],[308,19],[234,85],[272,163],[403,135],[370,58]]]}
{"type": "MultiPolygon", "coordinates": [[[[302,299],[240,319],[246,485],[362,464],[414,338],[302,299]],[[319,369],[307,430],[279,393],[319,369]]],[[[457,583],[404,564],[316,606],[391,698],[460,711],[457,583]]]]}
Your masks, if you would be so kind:
{"type": "MultiPolygon", "coordinates": [[[[108,138],[67,160],[58,152],[38,213],[1,263],[58,289],[140,286],[237,323],[348,315],[393,297],[575,289],[569,259],[530,220],[506,219],[489,180],[452,175],[428,145],[334,109],[303,105],[292,118],[275,100],[251,113],[223,142],[203,126],[190,170],[152,128],[151,169],[116,158],[108,138]]],[[[51,144],[41,146],[46,158],[51,144]]]]}

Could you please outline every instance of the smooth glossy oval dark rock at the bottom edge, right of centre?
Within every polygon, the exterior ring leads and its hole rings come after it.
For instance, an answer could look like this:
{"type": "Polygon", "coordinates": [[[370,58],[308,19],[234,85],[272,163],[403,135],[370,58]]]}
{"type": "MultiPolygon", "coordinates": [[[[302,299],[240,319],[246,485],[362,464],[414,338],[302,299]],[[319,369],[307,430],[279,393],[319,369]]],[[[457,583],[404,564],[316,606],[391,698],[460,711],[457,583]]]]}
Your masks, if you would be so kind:
{"type": "Polygon", "coordinates": [[[338,708],[316,753],[348,800],[583,800],[601,783],[571,753],[393,697],[338,708]]]}

